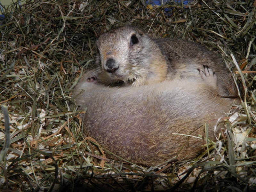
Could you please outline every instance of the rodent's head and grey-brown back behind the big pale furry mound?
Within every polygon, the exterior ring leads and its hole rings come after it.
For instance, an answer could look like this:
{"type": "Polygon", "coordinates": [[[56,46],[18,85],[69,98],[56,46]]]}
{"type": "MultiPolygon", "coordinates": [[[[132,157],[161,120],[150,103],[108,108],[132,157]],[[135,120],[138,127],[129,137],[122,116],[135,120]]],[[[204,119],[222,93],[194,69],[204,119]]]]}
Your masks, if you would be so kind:
{"type": "Polygon", "coordinates": [[[138,28],[124,26],[102,34],[97,49],[95,73],[105,85],[124,82],[138,86],[200,77],[197,69],[204,70],[203,65],[207,65],[218,76],[219,93],[236,95],[226,66],[199,44],[172,38],[154,39],[138,28]]]}

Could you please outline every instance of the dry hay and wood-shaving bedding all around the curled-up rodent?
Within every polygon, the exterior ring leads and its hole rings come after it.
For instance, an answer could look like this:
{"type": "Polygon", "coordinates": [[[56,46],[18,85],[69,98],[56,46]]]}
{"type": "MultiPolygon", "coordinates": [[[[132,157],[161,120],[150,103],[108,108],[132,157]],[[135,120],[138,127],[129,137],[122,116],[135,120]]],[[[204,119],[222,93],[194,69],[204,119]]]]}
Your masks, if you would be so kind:
{"type": "MultiPolygon", "coordinates": [[[[256,190],[255,6],[250,0],[157,7],[144,1],[27,1],[21,8],[14,4],[0,21],[0,103],[7,106],[11,130],[11,145],[0,164],[0,189],[256,190]],[[225,120],[219,141],[198,158],[150,168],[116,162],[83,134],[77,115],[83,111],[77,111],[71,91],[93,63],[96,37],[123,24],[156,37],[204,44],[222,56],[236,82],[243,84],[243,102],[233,106],[238,114],[225,120]]],[[[3,113],[0,129],[3,149],[3,113]]]]}

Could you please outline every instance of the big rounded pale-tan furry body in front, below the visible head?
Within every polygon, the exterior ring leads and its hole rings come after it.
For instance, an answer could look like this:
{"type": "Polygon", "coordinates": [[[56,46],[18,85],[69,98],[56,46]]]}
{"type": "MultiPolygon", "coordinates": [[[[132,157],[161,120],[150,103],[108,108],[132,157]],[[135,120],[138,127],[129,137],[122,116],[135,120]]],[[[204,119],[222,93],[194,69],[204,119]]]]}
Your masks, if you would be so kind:
{"type": "Polygon", "coordinates": [[[87,107],[86,133],[135,164],[154,166],[175,159],[183,145],[177,158],[195,157],[203,140],[172,133],[198,137],[203,135],[200,126],[208,122],[209,138],[214,140],[216,119],[226,116],[233,101],[215,94],[218,77],[209,68],[204,69],[203,79],[189,77],[135,87],[93,83],[92,74],[95,70],[85,74],[75,88],[77,104],[87,107]]]}

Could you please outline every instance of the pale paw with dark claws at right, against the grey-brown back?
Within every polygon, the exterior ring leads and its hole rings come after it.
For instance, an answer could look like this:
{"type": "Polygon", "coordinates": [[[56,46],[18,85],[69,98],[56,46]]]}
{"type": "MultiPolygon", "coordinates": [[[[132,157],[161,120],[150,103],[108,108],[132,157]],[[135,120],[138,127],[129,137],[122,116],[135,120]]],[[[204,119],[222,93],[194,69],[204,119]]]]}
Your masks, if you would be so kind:
{"type": "Polygon", "coordinates": [[[197,69],[199,71],[199,74],[201,75],[201,77],[203,78],[206,84],[217,89],[217,75],[208,66],[206,65],[203,65],[203,66],[204,66],[204,72],[200,69],[197,69]]]}

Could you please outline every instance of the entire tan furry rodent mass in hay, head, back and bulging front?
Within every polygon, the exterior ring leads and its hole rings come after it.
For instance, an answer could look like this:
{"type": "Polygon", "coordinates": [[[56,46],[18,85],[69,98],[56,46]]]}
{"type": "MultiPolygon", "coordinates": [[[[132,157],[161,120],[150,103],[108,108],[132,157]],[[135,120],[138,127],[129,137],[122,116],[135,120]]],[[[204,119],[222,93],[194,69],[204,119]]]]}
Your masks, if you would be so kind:
{"type": "Polygon", "coordinates": [[[202,150],[202,139],[172,133],[198,137],[208,122],[214,140],[216,119],[233,102],[217,93],[234,96],[236,88],[212,52],[187,41],[153,39],[133,27],[101,35],[97,48],[96,68],[76,86],[84,90],[77,104],[87,107],[86,134],[112,153],[149,166],[193,158],[202,150]],[[139,41],[131,45],[134,35],[139,41]],[[105,86],[120,82],[126,86],[105,86]]]}

